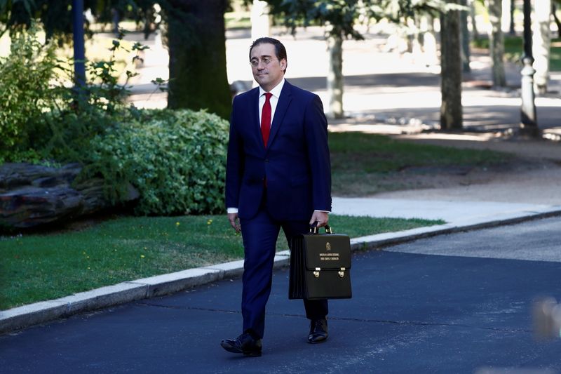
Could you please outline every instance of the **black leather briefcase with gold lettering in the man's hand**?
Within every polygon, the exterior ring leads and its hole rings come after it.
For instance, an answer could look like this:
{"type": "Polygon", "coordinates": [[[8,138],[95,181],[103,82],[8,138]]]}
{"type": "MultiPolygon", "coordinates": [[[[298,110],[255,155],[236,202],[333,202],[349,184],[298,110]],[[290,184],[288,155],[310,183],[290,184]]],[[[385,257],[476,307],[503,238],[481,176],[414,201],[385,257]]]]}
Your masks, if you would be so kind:
{"type": "Polygon", "coordinates": [[[297,236],[290,249],[289,299],[351,298],[351,240],[325,227],[297,236]]]}

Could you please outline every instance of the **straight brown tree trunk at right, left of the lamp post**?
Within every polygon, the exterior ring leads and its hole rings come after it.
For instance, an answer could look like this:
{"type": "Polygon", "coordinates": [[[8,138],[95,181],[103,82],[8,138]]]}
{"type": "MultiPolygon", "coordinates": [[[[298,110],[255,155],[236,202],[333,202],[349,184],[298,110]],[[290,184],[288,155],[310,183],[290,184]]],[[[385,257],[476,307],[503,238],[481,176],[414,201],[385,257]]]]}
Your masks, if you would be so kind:
{"type": "Polygon", "coordinates": [[[461,130],[461,42],[459,11],[449,11],[440,17],[440,79],[442,104],[440,128],[461,130]]]}

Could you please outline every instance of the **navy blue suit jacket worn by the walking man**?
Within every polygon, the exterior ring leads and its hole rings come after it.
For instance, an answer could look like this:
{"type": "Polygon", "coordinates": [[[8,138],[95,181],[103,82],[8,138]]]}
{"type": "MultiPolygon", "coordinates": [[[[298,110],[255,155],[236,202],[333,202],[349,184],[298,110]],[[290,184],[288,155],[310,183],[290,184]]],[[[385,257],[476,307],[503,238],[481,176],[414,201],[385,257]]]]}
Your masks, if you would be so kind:
{"type": "Polygon", "coordinates": [[[266,191],[276,220],[309,220],[331,211],[327,119],[318,95],[285,81],[267,147],[259,126],[259,88],[234,98],[226,171],[226,206],[250,219],[266,191]],[[264,187],[266,178],[266,189],[264,187]]]}

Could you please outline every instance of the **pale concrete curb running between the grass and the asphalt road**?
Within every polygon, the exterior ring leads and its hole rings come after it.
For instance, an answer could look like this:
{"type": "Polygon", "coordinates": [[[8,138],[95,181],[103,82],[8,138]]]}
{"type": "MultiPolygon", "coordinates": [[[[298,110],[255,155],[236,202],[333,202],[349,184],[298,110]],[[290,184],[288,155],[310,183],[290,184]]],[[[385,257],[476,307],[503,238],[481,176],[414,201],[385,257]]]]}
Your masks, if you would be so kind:
{"type": "MultiPolygon", "coordinates": [[[[501,225],[513,225],[519,222],[548,218],[561,215],[561,206],[542,209],[540,211],[522,211],[516,213],[504,213],[476,220],[459,221],[454,224],[445,224],[431,227],[420,227],[402,232],[388,232],[360,238],[351,239],[352,251],[365,251],[370,249],[381,249],[406,241],[426,238],[453,232],[463,232],[473,229],[496,227],[501,225]]],[[[290,252],[281,251],[275,255],[275,269],[287,267],[290,252]]],[[[0,334],[10,333],[27,326],[37,325],[52,321],[53,319],[66,318],[73,314],[89,312],[95,309],[120,305],[126,302],[154,298],[156,296],[177,293],[187,288],[201,286],[206,283],[222,279],[241,276],[243,273],[243,260],[225,262],[223,264],[210,265],[187,269],[181,272],[151,276],[149,278],[137,279],[76,293],[56,300],[36,302],[5,311],[0,311],[0,334]]]]}

